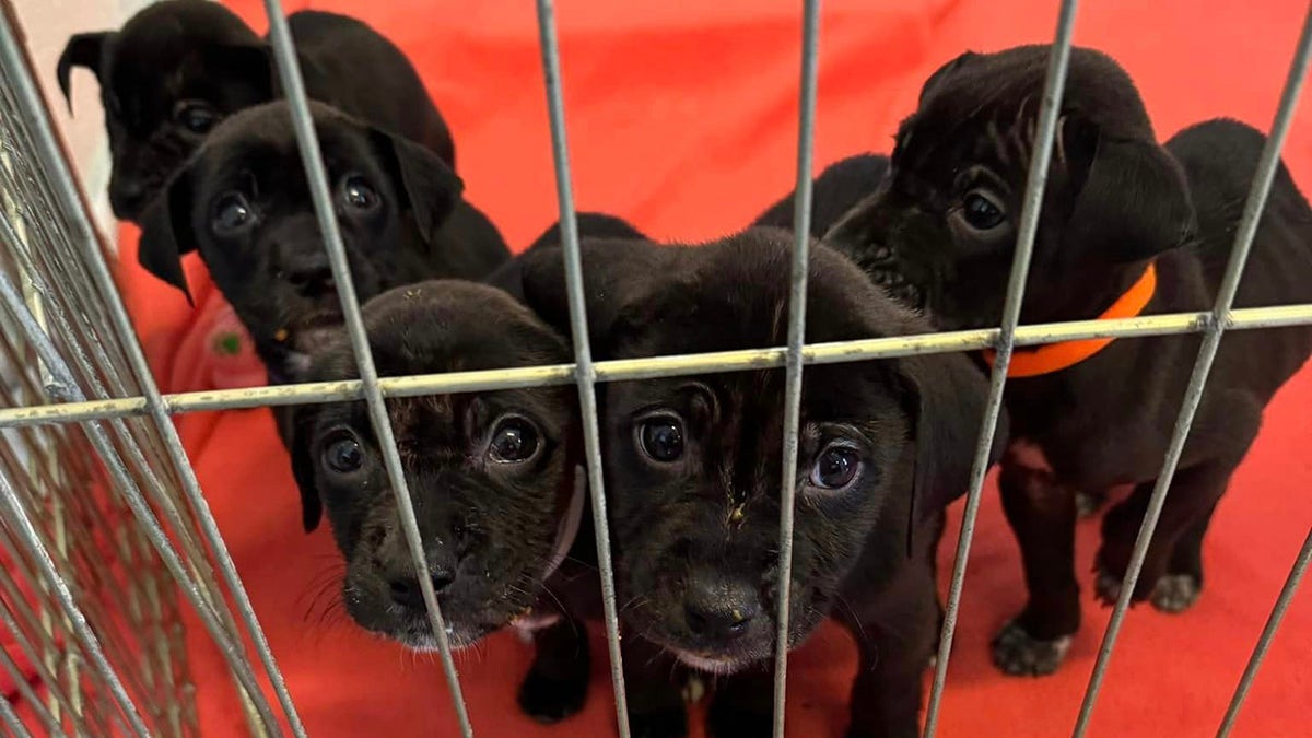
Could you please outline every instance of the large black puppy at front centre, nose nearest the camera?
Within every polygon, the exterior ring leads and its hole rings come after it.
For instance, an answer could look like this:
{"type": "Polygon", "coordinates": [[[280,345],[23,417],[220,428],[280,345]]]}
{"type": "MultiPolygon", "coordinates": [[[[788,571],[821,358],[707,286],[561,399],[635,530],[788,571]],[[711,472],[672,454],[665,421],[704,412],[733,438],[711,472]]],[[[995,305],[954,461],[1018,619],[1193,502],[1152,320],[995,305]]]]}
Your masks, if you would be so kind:
{"type": "MultiPolygon", "coordinates": [[[[783,344],[790,246],[774,228],[697,248],[584,243],[594,355],[783,344]]],[[[521,264],[522,298],[565,324],[559,251],[521,264]]],[[[925,328],[846,259],[816,247],[808,341],[925,328]]],[[[663,651],[722,675],[714,735],[769,734],[783,377],[771,369],[602,387],[617,588],[623,625],[638,636],[623,641],[638,735],[686,733],[663,651]]],[[[855,634],[862,666],[849,735],[918,734],[921,674],[939,622],[933,552],[943,507],[967,486],[985,391],[963,356],[806,370],[789,646],[830,615],[855,634]]]]}

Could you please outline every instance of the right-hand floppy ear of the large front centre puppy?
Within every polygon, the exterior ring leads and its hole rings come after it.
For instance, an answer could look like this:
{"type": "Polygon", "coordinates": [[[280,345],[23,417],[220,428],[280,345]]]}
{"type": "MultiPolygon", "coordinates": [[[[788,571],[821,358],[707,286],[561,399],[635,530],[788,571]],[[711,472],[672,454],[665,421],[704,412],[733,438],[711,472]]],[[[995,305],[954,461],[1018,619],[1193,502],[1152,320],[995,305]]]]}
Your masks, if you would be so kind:
{"type": "MultiPolygon", "coordinates": [[[[911,356],[899,360],[914,423],[916,473],[911,532],[968,491],[980,420],[988,403],[988,378],[963,355],[911,356]]],[[[998,416],[989,465],[1006,448],[1006,412],[998,416]]]]}

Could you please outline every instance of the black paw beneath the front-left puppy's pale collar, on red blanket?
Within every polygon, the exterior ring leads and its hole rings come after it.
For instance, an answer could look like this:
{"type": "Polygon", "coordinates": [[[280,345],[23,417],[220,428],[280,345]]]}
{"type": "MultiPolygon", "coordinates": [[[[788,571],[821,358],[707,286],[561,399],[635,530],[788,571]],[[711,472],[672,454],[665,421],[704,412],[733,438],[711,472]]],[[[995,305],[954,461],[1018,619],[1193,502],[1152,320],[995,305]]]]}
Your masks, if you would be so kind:
{"type": "Polygon", "coordinates": [[[543,725],[583,709],[588,697],[590,659],[583,621],[562,616],[533,634],[537,649],[520,685],[520,708],[543,725]]]}

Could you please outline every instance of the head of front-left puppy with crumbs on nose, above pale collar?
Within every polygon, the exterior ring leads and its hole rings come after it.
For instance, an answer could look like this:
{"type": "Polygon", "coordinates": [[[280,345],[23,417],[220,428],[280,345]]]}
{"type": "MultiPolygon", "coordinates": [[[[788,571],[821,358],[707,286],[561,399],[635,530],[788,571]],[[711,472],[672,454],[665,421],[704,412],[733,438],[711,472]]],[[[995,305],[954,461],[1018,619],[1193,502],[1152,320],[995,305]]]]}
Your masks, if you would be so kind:
{"type": "MultiPolygon", "coordinates": [[[[462,281],[398,288],[363,310],[383,376],[562,364],[569,351],[509,295],[462,281]]],[[[358,377],[344,332],[315,355],[314,380],[358,377]]],[[[387,401],[451,643],[468,646],[527,609],[571,513],[569,387],[387,401]]],[[[342,599],[363,628],[434,646],[383,457],[363,402],[300,406],[293,470],[304,524],[327,510],[346,561],[342,599]]],[[[579,508],[572,508],[577,513],[579,508]]]]}

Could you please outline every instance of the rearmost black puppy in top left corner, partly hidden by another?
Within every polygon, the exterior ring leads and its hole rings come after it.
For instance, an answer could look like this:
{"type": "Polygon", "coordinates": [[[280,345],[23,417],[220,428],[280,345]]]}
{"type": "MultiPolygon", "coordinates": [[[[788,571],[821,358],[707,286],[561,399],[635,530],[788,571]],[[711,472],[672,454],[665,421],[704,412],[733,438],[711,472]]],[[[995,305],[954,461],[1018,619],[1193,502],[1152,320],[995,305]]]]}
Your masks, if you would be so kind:
{"type": "MultiPolygon", "coordinates": [[[[455,167],[446,122],[396,46],[333,13],[302,11],[287,24],[312,100],[416,141],[455,167]]],[[[269,45],[209,0],[165,0],[117,33],[71,37],[56,70],[64,98],[73,67],[100,81],[114,158],[109,201],[134,222],[220,119],[281,96],[269,45]]]]}

